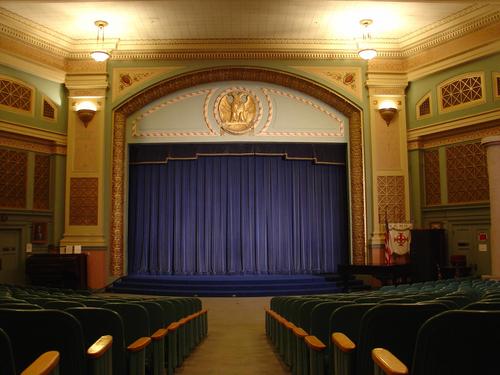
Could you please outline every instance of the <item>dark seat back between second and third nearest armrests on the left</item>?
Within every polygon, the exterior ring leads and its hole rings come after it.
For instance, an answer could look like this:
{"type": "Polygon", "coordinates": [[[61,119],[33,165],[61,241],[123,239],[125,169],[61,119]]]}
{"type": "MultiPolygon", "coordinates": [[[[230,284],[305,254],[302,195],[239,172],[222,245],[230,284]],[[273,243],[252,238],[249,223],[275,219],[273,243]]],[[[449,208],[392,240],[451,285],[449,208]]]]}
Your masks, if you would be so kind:
{"type": "Polygon", "coordinates": [[[113,337],[113,373],[126,374],[127,354],[123,321],[120,315],[116,311],[100,307],[70,307],[65,311],[76,317],[82,325],[87,348],[101,336],[113,337]]]}

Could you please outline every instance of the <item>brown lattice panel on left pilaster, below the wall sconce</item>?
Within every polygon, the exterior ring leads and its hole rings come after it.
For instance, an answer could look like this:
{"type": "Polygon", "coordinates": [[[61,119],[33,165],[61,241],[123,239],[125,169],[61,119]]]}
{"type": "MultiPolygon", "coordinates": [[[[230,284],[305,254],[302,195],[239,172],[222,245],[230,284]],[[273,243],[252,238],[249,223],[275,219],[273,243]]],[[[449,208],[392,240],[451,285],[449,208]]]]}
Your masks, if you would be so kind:
{"type": "Polygon", "coordinates": [[[70,184],[69,224],[97,225],[97,177],[73,177],[70,184]]]}

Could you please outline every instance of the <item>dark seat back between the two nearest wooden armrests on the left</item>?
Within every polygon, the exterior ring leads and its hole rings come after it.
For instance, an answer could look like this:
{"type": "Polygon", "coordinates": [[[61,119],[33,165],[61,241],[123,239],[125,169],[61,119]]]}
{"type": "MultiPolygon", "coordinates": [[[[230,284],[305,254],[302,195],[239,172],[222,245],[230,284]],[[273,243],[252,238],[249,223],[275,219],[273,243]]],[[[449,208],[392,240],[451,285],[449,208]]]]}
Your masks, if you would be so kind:
{"type": "Polygon", "coordinates": [[[86,374],[83,331],[74,316],[60,310],[0,309],[0,328],[11,340],[17,369],[57,350],[61,375],[86,374]]]}

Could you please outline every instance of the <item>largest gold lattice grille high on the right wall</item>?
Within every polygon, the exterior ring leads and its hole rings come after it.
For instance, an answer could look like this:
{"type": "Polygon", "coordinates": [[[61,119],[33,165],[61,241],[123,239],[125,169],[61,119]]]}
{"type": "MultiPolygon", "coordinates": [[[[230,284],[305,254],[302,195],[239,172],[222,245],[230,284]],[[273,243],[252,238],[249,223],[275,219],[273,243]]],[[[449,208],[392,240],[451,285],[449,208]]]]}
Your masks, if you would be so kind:
{"type": "Polygon", "coordinates": [[[439,109],[441,112],[447,112],[483,103],[483,82],[482,73],[469,73],[443,82],[438,87],[439,109]]]}

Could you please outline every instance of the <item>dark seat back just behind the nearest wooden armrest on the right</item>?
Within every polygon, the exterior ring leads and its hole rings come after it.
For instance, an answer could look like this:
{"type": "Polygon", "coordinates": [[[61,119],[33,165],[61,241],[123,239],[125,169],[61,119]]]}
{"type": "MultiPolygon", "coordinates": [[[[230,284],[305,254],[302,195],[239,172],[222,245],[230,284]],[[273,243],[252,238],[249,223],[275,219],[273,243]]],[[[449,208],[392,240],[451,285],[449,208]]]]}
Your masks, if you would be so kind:
{"type": "Polygon", "coordinates": [[[356,373],[373,374],[372,349],[391,351],[411,365],[417,333],[430,317],[446,310],[440,304],[378,304],[361,320],[356,352],[356,373]]]}

